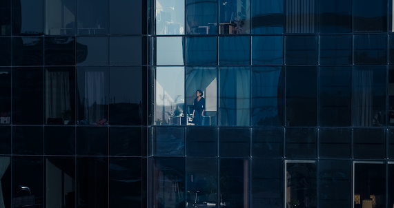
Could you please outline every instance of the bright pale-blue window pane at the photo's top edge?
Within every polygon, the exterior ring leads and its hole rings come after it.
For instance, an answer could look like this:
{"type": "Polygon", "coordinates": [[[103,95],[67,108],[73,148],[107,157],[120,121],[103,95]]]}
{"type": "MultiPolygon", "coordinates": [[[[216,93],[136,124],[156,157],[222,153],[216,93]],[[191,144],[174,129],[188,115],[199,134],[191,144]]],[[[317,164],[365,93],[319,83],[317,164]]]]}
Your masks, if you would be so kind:
{"type": "Polygon", "coordinates": [[[184,0],[156,0],[156,34],[184,34],[184,0]]]}

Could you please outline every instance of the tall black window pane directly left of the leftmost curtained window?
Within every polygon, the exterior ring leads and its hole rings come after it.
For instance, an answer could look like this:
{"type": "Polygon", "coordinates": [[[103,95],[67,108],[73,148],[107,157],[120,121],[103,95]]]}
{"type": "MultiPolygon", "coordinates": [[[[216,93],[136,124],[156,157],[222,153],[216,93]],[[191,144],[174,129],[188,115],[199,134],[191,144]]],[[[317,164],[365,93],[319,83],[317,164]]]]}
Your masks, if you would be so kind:
{"type": "Polygon", "coordinates": [[[42,106],[42,68],[12,68],[12,123],[42,124],[42,106]]]}

